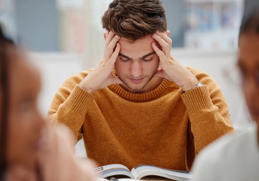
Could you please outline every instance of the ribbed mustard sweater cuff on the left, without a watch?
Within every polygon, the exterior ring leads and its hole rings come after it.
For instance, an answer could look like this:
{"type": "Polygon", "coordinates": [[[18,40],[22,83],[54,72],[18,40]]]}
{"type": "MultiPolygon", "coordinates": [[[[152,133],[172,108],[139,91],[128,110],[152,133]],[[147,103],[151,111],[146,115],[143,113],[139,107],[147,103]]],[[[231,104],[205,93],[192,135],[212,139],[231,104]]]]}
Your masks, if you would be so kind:
{"type": "Polygon", "coordinates": [[[76,85],[64,104],[78,114],[86,114],[89,104],[94,99],[94,95],[76,85]]]}

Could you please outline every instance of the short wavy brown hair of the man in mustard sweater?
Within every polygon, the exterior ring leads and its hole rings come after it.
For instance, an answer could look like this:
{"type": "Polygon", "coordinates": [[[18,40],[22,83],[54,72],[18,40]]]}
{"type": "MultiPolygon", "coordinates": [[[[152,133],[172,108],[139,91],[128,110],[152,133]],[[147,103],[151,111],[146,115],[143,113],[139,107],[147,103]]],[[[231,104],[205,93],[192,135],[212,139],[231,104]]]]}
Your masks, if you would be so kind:
{"type": "Polygon", "coordinates": [[[160,0],[114,0],[102,16],[102,25],[134,42],[166,31],[166,11],[160,0]]]}

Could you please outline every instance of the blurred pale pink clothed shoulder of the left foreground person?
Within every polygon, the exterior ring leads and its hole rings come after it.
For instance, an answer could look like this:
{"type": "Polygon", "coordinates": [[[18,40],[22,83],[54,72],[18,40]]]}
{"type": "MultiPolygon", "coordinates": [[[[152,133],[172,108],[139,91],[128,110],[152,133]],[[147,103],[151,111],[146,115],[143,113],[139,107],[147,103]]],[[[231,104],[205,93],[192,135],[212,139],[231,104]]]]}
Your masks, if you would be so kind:
{"type": "Polygon", "coordinates": [[[93,165],[74,157],[76,140],[66,126],[49,124],[45,134],[47,146],[38,159],[46,180],[95,180],[93,165]]]}

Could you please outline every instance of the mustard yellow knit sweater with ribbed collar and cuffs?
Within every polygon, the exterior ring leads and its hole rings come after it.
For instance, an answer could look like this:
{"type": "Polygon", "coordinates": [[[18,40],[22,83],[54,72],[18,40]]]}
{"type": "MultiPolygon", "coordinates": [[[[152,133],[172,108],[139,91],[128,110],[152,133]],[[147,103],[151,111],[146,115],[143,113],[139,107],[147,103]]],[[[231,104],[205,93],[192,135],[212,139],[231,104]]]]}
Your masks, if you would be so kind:
{"type": "Polygon", "coordinates": [[[133,94],[115,84],[92,95],[77,85],[91,70],[78,73],[57,90],[48,118],[67,125],[77,140],[83,135],[88,158],[99,166],[189,170],[201,149],[234,129],[217,83],[187,68],[205,86],[184,94],[164,79],[148,93],[133,94]]]}

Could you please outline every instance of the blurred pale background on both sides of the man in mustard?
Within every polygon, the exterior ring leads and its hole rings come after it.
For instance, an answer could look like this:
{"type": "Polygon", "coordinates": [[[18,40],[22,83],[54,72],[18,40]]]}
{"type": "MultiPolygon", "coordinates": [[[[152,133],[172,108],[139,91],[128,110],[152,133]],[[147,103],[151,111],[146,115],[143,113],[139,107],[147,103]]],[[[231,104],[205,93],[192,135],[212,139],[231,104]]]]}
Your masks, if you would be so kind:
{"type": "MultiPolygon", "coordinates": [[[[44,116],[69,76],[95,67],[103,56],[100,19],[111,0],[0,0],[5,32],[28,50],[42,74],[39,107],[44,116]]],[[[237,130],[251,124],[235,70],[243,11],[258,0],[162,0],[172,55],[210,74],[219,84],[237,130]]],[[[83,142],[77,155],[85,156],[83,142]]]]}

